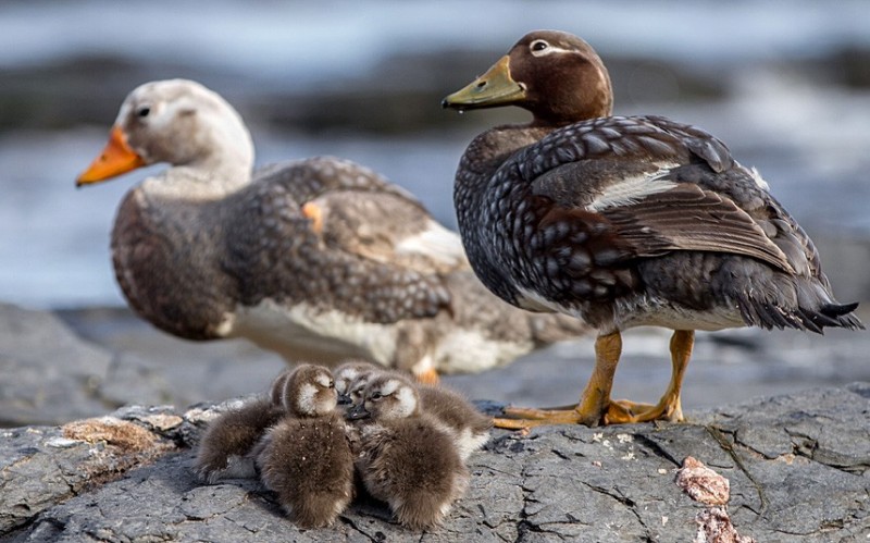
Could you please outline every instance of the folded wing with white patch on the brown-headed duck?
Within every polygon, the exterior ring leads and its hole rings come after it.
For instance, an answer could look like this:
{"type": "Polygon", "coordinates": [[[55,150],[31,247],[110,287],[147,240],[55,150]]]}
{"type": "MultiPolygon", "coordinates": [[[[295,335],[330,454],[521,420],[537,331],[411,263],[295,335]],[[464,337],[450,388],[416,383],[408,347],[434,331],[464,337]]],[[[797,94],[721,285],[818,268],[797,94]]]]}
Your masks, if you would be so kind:
{"type": "Polygon", "coordinates": [[[741,198],[732,198],[753,183],[748,171],[697,128],[661,118],[600,119],[557,131],[509,162],[514,160],[526,164],[521,173],[532,193],[554,205],[546,224],[572,218],[597,223],[624,258],[717,251],[793,271],[741,198]],[[718,187],[709,178],[734,186],[718,187]]]}

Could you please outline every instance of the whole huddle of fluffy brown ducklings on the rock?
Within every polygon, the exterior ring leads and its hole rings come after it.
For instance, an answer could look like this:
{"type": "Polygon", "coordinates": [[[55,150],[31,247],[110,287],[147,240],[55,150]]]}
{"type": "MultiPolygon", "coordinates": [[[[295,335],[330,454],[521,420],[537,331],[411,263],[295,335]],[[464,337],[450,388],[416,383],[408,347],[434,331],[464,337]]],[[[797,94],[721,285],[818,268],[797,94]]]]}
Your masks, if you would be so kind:
{"type": "Polygon", "coordinates": [[[492,419],[459,394],[362,361],[331,372],[299,365],[268,397],[213,420],[200,443],[200,479],[258,477],[302,528],[332,525],[355,480],[411,529],[438,526],[469,484],[465,461],[492,419]]]}

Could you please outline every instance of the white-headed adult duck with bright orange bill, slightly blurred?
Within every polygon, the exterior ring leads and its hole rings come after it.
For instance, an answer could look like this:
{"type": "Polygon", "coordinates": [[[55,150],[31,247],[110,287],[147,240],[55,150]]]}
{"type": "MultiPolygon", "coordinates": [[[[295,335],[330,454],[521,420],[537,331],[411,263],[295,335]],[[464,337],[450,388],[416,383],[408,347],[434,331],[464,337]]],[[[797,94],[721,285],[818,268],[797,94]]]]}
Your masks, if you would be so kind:
{"type": "Polygon", "coordinates": [[[254,170],[241,115],[189,79],[149,82],[121,104],[77,186],[165,163],[124,196],[115,276],[145,320],[191,341],[244,337],[331,367],[480,372],[583,335],[474,276],[456,232],[407,190],[335,157],[254,170]]]}

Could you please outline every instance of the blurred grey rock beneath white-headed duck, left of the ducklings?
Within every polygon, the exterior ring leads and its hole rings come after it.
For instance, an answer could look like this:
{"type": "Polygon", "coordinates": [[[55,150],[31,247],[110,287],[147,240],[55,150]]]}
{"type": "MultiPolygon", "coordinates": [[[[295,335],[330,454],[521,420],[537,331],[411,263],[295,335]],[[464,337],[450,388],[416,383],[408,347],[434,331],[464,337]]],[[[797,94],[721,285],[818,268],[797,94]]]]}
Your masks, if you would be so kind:
{"type": "Polygon", "coordinates": [[[277,355],[247,342],[185,342],[128,309],[50,312],[0,303],[0,428],[250,394],[284,368],[277,355]],[[100,344],[95,331],[116,343],[100,344]]]}

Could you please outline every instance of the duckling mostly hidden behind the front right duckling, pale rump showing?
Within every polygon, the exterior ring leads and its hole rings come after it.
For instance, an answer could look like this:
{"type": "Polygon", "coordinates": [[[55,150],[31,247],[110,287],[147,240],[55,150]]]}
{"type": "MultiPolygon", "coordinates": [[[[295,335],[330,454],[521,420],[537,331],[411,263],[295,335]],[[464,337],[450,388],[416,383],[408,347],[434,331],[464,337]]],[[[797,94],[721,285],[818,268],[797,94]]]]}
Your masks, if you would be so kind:
{"type": "MultiPolygon", "coordinates": [[[[365,361],[343,363],[334,372],[338,403],[344,404],[349,412],[361,404],[369,382],[388,371],[365,361]]],[[[401,377],[398,372],[394,374],[401,377]]],[[[451,436],[462,461],[489,441],[492,417],[483,415],[461,394],[443,384],[418,382],[414,386],[421,409],[437,420],[442,430],[451,436]]]]}

